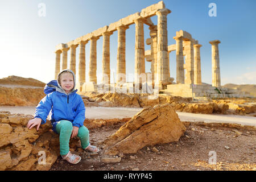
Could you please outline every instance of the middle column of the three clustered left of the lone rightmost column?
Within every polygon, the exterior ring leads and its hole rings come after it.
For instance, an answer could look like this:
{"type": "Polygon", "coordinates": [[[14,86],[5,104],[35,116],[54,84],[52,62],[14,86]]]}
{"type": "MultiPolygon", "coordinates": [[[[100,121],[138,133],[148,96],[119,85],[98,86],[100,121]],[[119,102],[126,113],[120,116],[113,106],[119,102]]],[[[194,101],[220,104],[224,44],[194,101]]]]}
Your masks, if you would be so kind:
{"type": "Polygon", "coordinates": [[[192,40],[185,40],[184,54],[185,54],[185,84],[194,83],[194,48],[192,40]]]}

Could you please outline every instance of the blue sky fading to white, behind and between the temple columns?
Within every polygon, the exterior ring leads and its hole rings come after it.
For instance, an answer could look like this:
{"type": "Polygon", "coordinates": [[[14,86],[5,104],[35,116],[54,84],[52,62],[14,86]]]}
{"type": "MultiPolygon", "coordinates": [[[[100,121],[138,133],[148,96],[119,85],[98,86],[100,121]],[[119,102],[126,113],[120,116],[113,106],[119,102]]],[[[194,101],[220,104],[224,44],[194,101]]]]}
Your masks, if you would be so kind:
{"type": "MultiPolygon", "coordinates": [[[[55,46],[67,43],[100,27],[140,12],[155,0],[9,0],[0,1],[0,78],[15,75],[43,82],[54,79],[55,46]],[[46,16],[39,16],[46,5],[46,16]]],[[[256,1],[254,0],[164,0],[172,13],[167,16],[168,45],[176,31],[184,30],[199,41],[202,81],[212,83],[210,40],[218,39],[221,85],[256,84],[256,1]],[[217,16],[210,17],[209,3],[216,3],[217,16]]],[[[157,17],[152,21],[156,24],[157,17]]],[[[149,36],[144,25],[144,40],[149,36]]],[[[126,30],[126,73],[134,73],[135,25],[126,30]]],[[[86,44],[86,80],[89,48],[86,44]]],[[[145,49],[150,49],[145,44],[145,49]]],[[[116,70],[117,31],[110,36],[110,69],[116,70]]],[[[77,68],[79,47],[77,48],[77,68]]],[[[100,81],[102,38],[97,41],[97,74],[100,81]]],[[[69,53],[68,53],[69,65],[69,53]]],[[[146,62],[146,72],[150,63],[146,62]]],[[[175,52],[170,53],[170,73],[176,79],[175,52]]],[[[112,73],[113,75],[113,73],[112,73]]]]}

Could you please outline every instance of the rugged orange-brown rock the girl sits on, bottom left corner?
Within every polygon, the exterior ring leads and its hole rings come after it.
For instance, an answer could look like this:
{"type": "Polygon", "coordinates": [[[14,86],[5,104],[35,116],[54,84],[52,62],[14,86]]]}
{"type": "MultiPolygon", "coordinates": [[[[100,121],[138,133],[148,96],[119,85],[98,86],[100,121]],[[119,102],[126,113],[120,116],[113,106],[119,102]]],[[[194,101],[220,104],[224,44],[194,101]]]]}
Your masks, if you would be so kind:
{"type": "MultiPolygon", "coordinates": [[[[47,121],[27,128],[32,115],[0,113],[0,170],[49,170],[59,156],[59,135],[47,121]],[[45,158],[44,158],[45,157],[45,158]],[[45,159],[45,160],[44,160],[45,159]]],[[[71,140],[76,147],[77,138],[71,140]]]]}

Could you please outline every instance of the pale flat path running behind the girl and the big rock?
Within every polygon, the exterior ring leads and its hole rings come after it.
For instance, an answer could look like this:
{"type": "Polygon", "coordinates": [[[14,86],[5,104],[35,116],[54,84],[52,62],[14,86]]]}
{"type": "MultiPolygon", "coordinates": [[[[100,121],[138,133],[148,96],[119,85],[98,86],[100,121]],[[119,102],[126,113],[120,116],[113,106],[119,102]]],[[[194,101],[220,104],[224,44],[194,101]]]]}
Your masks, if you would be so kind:
{"type": "MultiPolygon", "coordinates": [[[[35,112],[36,106],[0,106],[1,110],[13,113],[31,114],[35,112]]],[[[127,107],[86,107],[86,118],[129,118],[141,111],[142,108],[127,107]]],[[[181,121],[191,122],[218,122],[238,123],[256,127],[256,117],[244,115],[222,115],[222,114],[195,114],[176,112],[181,121]]]]}

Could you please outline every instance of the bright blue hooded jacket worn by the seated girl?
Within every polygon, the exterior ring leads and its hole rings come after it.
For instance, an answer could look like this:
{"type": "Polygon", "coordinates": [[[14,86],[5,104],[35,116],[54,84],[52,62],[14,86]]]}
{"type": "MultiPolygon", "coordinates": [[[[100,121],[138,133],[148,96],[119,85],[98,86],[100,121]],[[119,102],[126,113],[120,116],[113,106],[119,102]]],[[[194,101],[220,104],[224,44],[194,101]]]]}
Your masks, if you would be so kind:
{"type": "MultiPolygon", "coordinates": [[[[75,74],[70,69],[64,69],[63,71],[66,70],[73,74],[75,88],[75,74]]],[[[59,75],[63,71],[61,71],[59,75]]],[[[74,88],[67,94],[65,90],[61,88],[57,80],[50,81],[44,87],[44,93],[47,95],[39,102],[38,106],[36,106],[34,117],[42,119],[42,124],[44,124],[46,123],[49,111],[51,111],[52,129],[55,133],[57,133],[55,129],[57,122],[63,119],[72,122],[73,126],[83,126],[85,120],[85,106],[81,96],[76,93],[77,89],[74,88]]]]}

